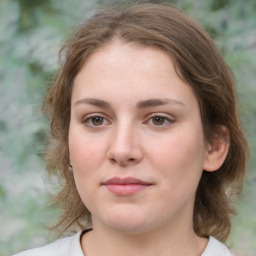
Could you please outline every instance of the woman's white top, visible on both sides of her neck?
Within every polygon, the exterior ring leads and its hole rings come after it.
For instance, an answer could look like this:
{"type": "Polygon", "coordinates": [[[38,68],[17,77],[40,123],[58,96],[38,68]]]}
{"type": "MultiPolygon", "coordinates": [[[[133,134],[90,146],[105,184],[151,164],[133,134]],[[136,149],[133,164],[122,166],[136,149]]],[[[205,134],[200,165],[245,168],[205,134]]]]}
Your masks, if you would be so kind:
{"type": "MultiPolygon", "coordinates": [[[[59,239],[43,247],[27,250],[13,256],[84,256],[79,232],[72,237],[59,239]]],[[[210,237],[201,256],[231,256],[229,249],[217,239],[210,237]]]]}

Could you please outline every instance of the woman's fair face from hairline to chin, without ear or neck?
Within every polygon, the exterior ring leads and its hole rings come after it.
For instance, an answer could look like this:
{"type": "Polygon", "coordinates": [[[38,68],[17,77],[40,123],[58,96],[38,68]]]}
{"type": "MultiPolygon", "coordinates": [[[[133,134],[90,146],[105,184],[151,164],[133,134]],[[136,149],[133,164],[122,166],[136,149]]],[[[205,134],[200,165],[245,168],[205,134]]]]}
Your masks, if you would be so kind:
{"type": "Polygon", "coordinates": [[[92,54],[72,93],[70,159],[94,226],[192,225],[207,155],[197,99],[171,58],[116,41],[92,54]]]}

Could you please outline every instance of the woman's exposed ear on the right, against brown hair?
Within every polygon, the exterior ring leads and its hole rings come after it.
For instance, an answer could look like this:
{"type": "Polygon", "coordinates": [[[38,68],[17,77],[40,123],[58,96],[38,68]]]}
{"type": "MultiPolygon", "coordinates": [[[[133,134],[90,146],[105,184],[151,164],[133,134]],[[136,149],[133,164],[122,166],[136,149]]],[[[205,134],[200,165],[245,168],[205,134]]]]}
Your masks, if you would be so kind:
{"type": "Polygon", "coordinates": [[[203,169],[208,172],[218,170],[224,163],[229,149],[229,131],[221,126],[216,138],[207,146],[203,169]]]}

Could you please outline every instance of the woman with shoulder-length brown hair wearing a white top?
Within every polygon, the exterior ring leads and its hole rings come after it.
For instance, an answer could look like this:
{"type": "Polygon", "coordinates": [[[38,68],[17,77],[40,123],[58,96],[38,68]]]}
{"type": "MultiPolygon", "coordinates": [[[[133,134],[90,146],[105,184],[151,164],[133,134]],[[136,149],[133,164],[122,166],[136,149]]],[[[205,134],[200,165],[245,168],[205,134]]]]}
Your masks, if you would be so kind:
{"type": "Polygon", "coordinates": [[[62,52],[46,160],[63,179],[57,226],[82,231],[18,255],[231,255],[248,146],[205,31],[169,6],[113,7],[62,52]]]}

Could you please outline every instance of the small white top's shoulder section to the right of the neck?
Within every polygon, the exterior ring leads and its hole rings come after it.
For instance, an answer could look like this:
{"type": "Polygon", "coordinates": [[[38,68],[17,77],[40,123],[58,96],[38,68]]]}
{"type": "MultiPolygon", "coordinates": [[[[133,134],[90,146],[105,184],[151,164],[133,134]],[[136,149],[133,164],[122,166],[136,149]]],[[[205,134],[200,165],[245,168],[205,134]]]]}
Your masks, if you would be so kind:
{"type": "Polygon", "coordinates": [[[201,256],[232,256],[228,247],[210,236],[209,242],[201,256]]]}

